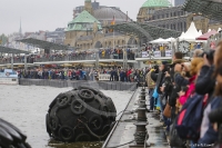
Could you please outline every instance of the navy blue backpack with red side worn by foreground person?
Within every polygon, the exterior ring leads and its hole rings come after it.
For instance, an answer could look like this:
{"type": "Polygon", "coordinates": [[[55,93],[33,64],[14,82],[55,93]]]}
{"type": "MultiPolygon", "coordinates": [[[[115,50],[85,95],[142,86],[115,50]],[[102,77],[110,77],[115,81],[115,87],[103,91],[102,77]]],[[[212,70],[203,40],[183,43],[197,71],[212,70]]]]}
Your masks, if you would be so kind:
{"type": "Polygon", "coordinates": [[[208,95],[194,93],[186,100],[180,111],[175,128],[182,139],[198,140],[208,95]]]}

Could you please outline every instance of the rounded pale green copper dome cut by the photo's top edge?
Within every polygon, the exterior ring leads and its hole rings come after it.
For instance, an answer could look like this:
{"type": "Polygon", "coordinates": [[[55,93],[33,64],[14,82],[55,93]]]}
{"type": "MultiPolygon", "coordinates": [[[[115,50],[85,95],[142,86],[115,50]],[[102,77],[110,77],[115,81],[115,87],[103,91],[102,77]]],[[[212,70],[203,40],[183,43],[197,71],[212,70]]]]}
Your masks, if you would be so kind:
{"type": "Polygon", "coordinates": [[[143,8],[151,8],[151,7],[171,7],[171,3],[168,0],[147,0],[143,4],[143,8]]]}

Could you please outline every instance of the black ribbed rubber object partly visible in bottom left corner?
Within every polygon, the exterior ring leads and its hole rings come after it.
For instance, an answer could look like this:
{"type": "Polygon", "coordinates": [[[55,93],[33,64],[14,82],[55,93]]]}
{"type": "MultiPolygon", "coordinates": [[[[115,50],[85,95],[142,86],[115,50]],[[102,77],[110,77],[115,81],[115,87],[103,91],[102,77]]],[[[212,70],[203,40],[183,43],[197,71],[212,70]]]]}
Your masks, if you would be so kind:
{"type": "Polygon", "coordinates": [[[0,119],[0,148],[31,148],[27,136],[8,121],[0,119]]]}

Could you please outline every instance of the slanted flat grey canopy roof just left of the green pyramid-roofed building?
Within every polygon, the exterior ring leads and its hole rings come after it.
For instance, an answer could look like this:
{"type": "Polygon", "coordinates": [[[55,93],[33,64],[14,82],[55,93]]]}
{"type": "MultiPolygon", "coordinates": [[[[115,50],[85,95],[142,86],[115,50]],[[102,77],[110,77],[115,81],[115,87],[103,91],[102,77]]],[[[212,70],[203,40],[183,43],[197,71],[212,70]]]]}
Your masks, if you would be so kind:
{"type": "Polygon", "coordinates": [[[74,47],[69,47],[69,46],[49,42],[49,41],[44,41],[44,40],[38,40],[38,39],[33,39],[33,38],[21,39],[21,40],[17,40],[17,41],[23,42],[27,45],[32,45],[34,47],[42,48],[42,49],[53,49],[53,50],[71,50],[71,49],[74,50],[74,49],[77,49],[74,47]]]}

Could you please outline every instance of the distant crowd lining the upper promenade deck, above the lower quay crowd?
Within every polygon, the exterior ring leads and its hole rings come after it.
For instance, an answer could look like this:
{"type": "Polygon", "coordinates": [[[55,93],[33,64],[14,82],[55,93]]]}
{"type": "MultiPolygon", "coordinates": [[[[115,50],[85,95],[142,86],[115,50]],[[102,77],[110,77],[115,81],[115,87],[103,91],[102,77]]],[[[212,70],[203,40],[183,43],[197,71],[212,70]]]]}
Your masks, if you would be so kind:
{"type": "MultiPolygon", "coordinates": [[[[129,60],[134,60],[135,51],[127,49],[127,57],[129,60]]],[[[100,59],[123,59],[123,49],[100,49],[100,59]]],[[[27,56],[27,62],[41,62],[41,61],[69,61],[69,60],[94,60],[95,51],[73,51],[70,53],[38,53],[27,56]]],[[[11,57],[0,56],[0,63],[10,63],[11,57]]],[[[24,62],[24,56],[14,56],[13,62],[24,62]]]]}

